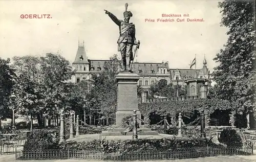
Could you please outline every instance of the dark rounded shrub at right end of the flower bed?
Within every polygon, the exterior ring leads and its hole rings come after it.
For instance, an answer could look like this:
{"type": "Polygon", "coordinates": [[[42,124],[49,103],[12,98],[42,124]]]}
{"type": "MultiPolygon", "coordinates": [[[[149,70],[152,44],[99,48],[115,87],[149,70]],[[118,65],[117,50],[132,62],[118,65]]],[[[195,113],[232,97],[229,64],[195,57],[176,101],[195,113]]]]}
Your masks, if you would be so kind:
{"type": "Polygon", "coordinates": [[[243,145],[241,136],[237,133],[236,130],[231,128],[226,128],[222,130],[220,134],[219,142],[227,146],[243,145]]]}

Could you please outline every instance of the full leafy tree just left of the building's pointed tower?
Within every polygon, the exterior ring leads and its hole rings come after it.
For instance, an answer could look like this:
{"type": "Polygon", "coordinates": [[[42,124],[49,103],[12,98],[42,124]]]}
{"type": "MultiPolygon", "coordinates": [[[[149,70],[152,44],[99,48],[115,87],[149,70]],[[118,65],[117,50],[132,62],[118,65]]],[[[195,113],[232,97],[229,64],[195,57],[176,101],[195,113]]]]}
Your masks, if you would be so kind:
{"type": "Polygon", "coordinates": [[[48,53],[40,57],[40,70],[45,114],[56,115],[60,109],[70,109],[67,96],[71,88],[67,80],[74,75],[70,62],[60,55],[48,53]]]}

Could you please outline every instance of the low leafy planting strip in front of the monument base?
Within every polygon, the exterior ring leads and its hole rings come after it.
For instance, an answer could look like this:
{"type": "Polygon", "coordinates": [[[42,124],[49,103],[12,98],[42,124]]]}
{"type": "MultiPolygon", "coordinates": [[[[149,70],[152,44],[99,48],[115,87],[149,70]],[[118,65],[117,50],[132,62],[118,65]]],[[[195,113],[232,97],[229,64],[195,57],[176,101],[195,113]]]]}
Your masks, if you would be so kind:
{"type": "Polygon", "coordinates": [[[175,139],[161,139],[161,140],[126,140],[120,141],[106,141],[94,140],[90,142],[70,142],[63,144],[61,148],[78,149],[81,151],[96,151],[104,153],[148,153],[148,152],[165,152],[177,148],[191,148],[191,147],[205,147],[210,143],[206,141],[194,140],[175,140],[175,139]]]}

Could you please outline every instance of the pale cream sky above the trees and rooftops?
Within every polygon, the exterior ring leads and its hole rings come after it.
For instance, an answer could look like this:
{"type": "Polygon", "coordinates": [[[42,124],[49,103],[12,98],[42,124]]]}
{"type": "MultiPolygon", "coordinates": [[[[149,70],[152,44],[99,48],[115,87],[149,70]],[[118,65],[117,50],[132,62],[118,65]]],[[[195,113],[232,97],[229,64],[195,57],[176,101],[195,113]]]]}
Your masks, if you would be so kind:
{"type": "MultiPolygon", "coordinates": [[[[204,55],[212,72],[212,60],[227,41],[227,28],[220,27],[221,13],[215,0],[177,1],[0,1],[0,57],[44,56],[59,53],[71,63],[78,40],[84,41],[88,59],[109,59],[117,51],[118,26],[103,11],[123,19],[124,4],[133,13],[140,49],[138,62],[169,63],[169,68],[189,68],[197,57],[197,69],[204,55]],[[21,18],[25,14],[50,14],[51,18],[21,18]],[[162,17],[181,14],[182,17],[162,17]],[[189,14],[189,17],[183,17],[189,14]],[[174,22],[156,22],[174,18],[174,22]],[[177,18],[184,22],[177,22],[177,18]],[[187,18],[202,22],[187,22],[187,18]],[[155,22],[145,22],[155,19],[155,22]]],[[[195,67],[194,67],[195,68],[195,67]]]]}

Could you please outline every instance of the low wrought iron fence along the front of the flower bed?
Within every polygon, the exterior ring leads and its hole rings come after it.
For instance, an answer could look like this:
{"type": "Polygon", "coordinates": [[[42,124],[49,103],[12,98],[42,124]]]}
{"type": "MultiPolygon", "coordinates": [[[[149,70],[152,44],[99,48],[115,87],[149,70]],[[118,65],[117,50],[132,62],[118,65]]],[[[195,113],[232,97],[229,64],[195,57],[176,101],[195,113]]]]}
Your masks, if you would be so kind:
{"type": "Polygon", "coordinates": [[[62,150],[23,150],[15,151],[16,159],[86,159],[86,160],[161,160],[194,158],[215,155],[251,155],[252,147],[194,147],[172,149],[166,152],[143,153],[102,153],[98,151],[62,150]]]}

